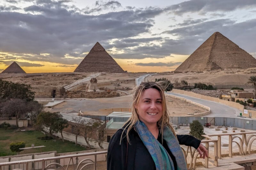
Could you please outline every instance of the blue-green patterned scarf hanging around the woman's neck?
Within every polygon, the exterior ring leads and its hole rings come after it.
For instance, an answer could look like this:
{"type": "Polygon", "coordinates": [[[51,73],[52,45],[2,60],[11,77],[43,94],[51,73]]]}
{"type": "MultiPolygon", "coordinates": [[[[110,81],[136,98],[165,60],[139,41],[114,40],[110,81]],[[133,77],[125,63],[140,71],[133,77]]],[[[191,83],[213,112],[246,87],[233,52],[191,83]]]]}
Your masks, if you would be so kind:
{"type": "MultiPolygon", "coordinates": [[[[174,164],[170,155],[164,149],[164,146],[160,144],[148,130],[147,126],[143,122],[139,121],[136,123],[135,129],[154,160],[156,170],[174,170],[174,164]]],[[[164,127],[163,138],[176,159],[177,169],[187,169],[186,160],[180,148],[179,142],[172,133],[171,129],[167,126],[164,127]]]]}

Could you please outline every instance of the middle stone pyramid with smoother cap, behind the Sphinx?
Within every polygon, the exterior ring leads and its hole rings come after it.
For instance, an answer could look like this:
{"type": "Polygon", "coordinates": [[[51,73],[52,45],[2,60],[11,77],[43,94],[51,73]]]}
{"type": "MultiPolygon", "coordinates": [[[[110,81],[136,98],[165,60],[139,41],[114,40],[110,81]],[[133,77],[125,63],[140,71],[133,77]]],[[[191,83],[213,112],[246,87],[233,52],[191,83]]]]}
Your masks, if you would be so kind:
{"type": "Polygon", "coordinates": [[[124,70],[97,42],[74,72],[124,73],[124,70]]]}

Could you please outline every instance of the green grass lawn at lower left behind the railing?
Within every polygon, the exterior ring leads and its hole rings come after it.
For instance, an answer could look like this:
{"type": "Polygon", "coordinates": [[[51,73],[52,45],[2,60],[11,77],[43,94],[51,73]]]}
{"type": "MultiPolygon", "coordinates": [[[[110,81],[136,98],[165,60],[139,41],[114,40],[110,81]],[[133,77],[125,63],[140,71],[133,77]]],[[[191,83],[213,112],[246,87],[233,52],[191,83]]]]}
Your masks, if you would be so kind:
{"type": "Polygon", "coordinates": [[[73,142],[65,141],[55,138],[51,140],[41,140],[37,139],[37,137],[43,137],[44,134],[35,130],[28,131],[20,131],[15,132],[17,129],[7,129],[4,132],[4,128],[0,128],[0,156],[8,156],[8,155],[16,155],[16,152],[12,152],[10,150],[10,144],[12,142],[25,142],[26,147],[31,147],[31,144],[35,146],[44,145],[43,148],[35,148],[35,149],[27,149],[25,151],[21,151],[20,154],[27,153],[37,153],[37,152],[49,152],[49,151],[57,151],[57,153],[64,152],[77,152],[77,151],[85,151],[86,147],[82,147],[80,145],[75,145],[73,142]]]}

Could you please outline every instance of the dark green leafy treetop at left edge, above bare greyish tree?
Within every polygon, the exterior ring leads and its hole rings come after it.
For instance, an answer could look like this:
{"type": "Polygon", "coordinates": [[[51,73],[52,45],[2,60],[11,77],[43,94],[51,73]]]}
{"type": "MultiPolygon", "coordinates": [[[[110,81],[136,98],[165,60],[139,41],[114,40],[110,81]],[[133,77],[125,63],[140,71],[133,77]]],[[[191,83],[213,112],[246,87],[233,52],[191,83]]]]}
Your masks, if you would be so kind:
{"type": "Polygon", "coordinates": [[[26,101],[34,100],[35,92],[31,91],[30,85],[13,83],[0,79],[0,98],[1,99],[22,99],[26,101]]]}

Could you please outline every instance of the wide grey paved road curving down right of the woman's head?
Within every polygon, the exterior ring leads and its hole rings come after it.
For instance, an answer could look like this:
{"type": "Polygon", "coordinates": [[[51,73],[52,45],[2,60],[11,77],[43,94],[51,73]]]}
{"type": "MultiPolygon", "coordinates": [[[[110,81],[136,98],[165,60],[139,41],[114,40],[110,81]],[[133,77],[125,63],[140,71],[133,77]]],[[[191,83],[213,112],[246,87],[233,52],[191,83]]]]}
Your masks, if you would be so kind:
{"type": "MultiPolygon", "coordinates": [[[[234,107],[229,107],[227,105],[223,105],[217,102],[209,101],[209,100],[203,100],[203,99],[198,99],[195,97],[187,96],[184,94],[179,94],[179,93],[173,93],[173,92],[167,92],[166,94],[171,94],[175,95],[178,97],[182,97],[191,101],[194,101],[196,103],[202,104],[204,106],[210,107],[211,108],[211,113],[209,115],[206,115],[205,117],[231,117],[231,118],[240,118],[237,117],[242,113],[241,110],[234,108],[234,107]]],[[[249,119],[249,118],[243,118],[243,119],[249,119]]]]}

